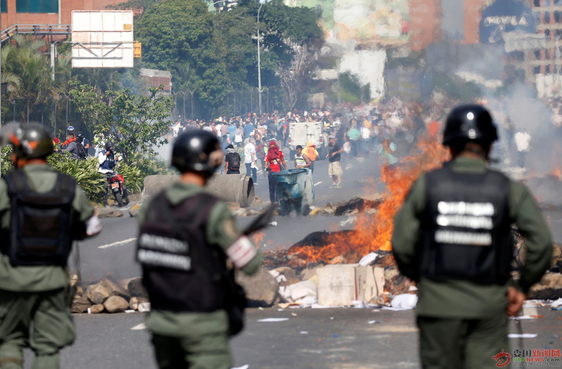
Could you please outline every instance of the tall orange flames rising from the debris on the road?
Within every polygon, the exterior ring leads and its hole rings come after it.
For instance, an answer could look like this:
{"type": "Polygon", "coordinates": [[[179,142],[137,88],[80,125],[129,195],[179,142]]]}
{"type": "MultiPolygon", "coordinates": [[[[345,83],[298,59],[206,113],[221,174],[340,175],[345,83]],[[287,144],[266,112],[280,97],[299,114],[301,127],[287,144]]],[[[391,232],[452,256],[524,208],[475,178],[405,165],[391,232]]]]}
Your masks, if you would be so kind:
{"type": "Polygon", "coordinates": [[[293,246],[289,253],[308,262],[323,260],[330,263],[339,255],[343,255],[347,262],[357,262],[371,251],[391,250],[394,217],[404,204],[411,185],[423,173],[441,167],[443,161],[448,160],[448,150],[441,145],[439,131],[438,123],[430,124],[411,154],[401,159],[400,165],[382,168],[380,181],[386,189],[375,215],[361,211],[354,232],[334,233],[323,247],[293,246]]]}

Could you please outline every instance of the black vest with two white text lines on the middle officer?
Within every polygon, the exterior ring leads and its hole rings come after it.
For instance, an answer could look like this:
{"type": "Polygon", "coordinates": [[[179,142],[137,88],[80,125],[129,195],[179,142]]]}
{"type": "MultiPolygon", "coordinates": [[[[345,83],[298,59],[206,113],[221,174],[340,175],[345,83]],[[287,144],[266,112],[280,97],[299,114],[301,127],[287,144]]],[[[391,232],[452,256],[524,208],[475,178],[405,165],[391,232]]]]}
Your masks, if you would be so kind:
{"type": "Polygon", "coordinates": [[[164,192],[151,201],[140,226],[137,261],[153,309],[212,312],[225,307],[226,257],[206,237],[215,203],[214,196],[198,194],[174,206],[164,192]]]}

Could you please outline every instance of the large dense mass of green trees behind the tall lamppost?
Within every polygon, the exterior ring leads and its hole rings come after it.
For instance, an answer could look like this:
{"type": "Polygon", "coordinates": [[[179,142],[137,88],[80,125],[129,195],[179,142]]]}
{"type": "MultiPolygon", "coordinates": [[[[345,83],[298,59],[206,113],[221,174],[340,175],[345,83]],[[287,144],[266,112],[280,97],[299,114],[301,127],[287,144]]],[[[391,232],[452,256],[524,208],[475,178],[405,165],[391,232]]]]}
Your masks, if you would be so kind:
{"type": "MultiPolygon", "coordinates": [[[[199,110],[212,116],[226,93],[257,86],[259,6],[256,1],[242,0],[230,11],[213,13],[202,0],[150,5],[135,24],[135,37],[143,44],[144,66],[170,70],[174,90],[196,91],[199,110]]],[[[282,0],[262,5],[262,86],[279,85],[279,68],[291,65],[295,45],[321,44],[316,19],[311,9],[289,7],[282,0]]]]}

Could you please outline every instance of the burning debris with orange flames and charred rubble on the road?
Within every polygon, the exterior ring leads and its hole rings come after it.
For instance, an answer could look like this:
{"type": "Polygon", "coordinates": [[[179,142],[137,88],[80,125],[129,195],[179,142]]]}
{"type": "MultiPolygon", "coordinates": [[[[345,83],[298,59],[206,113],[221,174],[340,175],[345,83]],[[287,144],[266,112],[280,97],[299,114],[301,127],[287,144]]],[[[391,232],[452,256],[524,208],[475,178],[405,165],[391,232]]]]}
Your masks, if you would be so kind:
{"type": "Polygon", "coordinates": [[[384,297],[387,301],[388,297],[407,293],[410,281],[398,272],[391,253],[394,217],[414,181],[447,159],[447,150],[439,143],[438,132],[438,125],[430,126],[420,137],[413,154],[402,159],[400,166],[383,167],[381,181],[386,190],[380,200],[356,198],[347,206],[336,204],[324,208],[330,209],[332,214],[356,214],[354,230],[314,232],[288,250],[268,251],[265,253],[266,268],[289,266],[303,273],[318,266],[358,263],[362,257],[374,252],[377,257],[372,266],[384,269],[384,297]]]}

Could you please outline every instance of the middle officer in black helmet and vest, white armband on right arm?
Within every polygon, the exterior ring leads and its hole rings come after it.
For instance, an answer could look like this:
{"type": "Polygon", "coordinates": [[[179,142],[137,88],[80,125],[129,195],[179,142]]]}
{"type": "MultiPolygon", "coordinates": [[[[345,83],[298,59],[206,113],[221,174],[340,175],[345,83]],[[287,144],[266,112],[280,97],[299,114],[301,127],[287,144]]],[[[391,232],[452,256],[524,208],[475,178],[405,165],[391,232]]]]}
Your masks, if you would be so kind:
{"type": "Polygon", "coordinates": [[[232,366],[228,337],[240,327],[233,326],[239,321],[229,304],[237,291],[226,259],[252,274],[261,253],[241,235],[226,204],[204,191],[222,161],[212,133],[180,134],[171,160],[180,180],[139,214],[137,259],[152,308],[146,326],[160,368],[232,366]]]}

